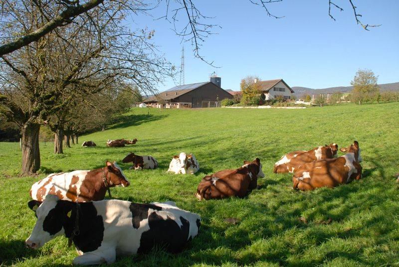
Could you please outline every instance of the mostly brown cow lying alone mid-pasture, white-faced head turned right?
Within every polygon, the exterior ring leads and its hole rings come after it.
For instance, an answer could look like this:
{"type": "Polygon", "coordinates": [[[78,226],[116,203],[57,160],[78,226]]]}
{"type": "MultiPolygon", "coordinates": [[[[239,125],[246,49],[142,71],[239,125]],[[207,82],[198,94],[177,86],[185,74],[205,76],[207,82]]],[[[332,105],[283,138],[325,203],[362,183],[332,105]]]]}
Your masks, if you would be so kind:
{"type": "Polygon", "coordinates": [[[196,197],[202,199],[221,199],[226,197],[244,197],[257,187],[258,178],[265,177],[259,158],[244,161],[238,169],[221,170],[202,178],[196,197]]]}

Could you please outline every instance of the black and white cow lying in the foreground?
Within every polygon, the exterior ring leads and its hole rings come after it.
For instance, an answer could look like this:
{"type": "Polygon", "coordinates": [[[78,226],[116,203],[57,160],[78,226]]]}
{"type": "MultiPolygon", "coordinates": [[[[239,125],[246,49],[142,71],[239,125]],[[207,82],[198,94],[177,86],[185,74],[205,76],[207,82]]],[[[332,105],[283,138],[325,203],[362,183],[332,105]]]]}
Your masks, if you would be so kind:
{"type": "Polygon", "coordinates": [[[43,202],[31,200],[28,206],[37,221],[26,246],[39,249],[65,235],[79,254],[73,264],[80,265],[109,264],[117,255],[146,253],[156,246],[180,252],[197,236],[201,222],[199,215],[171,201],[138,204],[112,199],[77,204],[47,195],[43,202]]]}

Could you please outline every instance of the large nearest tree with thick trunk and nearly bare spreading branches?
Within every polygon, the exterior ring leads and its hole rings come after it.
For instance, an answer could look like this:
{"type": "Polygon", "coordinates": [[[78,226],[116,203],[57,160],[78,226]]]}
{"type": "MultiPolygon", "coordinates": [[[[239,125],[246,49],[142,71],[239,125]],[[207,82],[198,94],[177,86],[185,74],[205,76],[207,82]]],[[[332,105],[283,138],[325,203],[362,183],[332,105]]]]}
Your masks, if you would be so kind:
{"type": "MultiPolygon", "coordinates": [[[[46,23],[41,9],[26,7],[28,12],[15,16],[18,25],[35,28],[46,23]]],[[[137,10],[141,8],[139,4],[137,10]]],[[[38,133],[43,122],[57,133],[55,143],[62,151],[63,127],[76,99],[120,88],[126,81],[153,92],[155,84],[173,75],[174,66],[159,57],[151,43],[154,32],[131,32],[122,25],[127,12],[112,1],[107,9],[94,8],[75,19],[77,23],[1,57],[2,113],[21,129],[23,173],[40,166],[38,133]]]]}

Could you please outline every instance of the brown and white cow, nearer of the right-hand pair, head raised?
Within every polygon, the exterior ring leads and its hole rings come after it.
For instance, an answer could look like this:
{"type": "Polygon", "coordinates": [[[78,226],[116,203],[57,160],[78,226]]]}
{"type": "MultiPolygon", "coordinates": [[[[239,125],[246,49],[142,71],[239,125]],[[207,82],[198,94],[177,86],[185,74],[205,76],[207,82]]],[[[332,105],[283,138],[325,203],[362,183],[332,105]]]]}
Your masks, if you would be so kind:
{"type": "Polygon", "coordinates": [[[319,187],[335,187],[362,178],[361,149],[358,141],[347,148],[341,148],[345,155],[305,163],[294,172],[294,189],[302,191],[319,187]]]}

